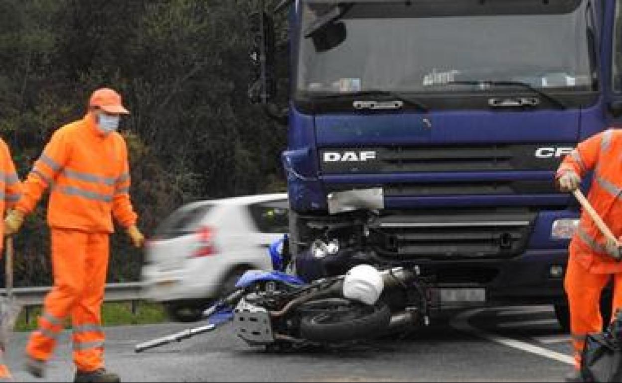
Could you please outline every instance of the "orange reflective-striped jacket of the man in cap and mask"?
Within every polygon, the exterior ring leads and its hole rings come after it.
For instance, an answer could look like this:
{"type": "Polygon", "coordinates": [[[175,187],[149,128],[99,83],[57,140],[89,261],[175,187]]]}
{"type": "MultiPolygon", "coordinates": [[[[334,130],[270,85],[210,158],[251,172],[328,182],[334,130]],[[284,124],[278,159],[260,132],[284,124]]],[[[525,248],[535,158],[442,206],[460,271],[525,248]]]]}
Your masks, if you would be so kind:
{"type": "Polygon", "coordinates": [[[16,209],[29,214],[51,187],[50,227],[111,233],[112,215],[123,227],[136,224],[129,186],[125,140],[117,132],[104,135],[95,116],[86,114],[54,132],[24,181],[16,209]]]}

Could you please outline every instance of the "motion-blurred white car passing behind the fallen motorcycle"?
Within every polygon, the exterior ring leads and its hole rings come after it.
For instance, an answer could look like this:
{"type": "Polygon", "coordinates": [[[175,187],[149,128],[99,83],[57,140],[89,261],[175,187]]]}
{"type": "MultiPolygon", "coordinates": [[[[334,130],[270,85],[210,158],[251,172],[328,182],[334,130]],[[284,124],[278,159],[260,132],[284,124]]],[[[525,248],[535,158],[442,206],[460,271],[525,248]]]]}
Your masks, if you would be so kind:
{"type": "Polygon", "coordinates": [[[144,297],[163,302],[174,320],[199,320],[244,271],[272,269],[268,246],[287,229],[287,194],[185,205],[147,243],[144,297]]]}

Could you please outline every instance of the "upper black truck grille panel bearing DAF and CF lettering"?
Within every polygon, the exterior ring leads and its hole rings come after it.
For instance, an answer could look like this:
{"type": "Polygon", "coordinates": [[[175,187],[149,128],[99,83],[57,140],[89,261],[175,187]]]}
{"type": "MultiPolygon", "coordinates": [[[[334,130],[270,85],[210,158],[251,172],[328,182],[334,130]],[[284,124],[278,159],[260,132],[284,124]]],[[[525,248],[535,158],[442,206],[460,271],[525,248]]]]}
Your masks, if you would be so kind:
{"type": "Polygon", "coordinates": [[[499,144],[323,148],[320,167],[326,174],[435,171],[553,170],[560,158],[541,158],[541,148],[573,144],[499,144]]]}

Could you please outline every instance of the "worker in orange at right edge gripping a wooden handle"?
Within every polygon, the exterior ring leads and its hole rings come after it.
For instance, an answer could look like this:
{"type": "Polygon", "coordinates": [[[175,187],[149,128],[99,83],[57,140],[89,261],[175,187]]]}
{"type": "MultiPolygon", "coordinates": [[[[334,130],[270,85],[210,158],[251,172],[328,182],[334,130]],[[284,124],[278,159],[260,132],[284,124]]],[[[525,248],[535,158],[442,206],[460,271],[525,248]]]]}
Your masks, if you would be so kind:
{"type": "MultiPolygon", "coordinates": [[[[562,191],[576,190],[583,176],[593,171],[588,200],[611,231],[622,235],[622,130],[610,129],[580,143],[557,171],[562,191]]],[[[600,296],[613,279],[613,312],[622,309],[622,263],[615,260],[620,248],[605,240],[596,224],[583,212],[570,242],[570,256],[564,287],[570,305],[570,329],[576,365],[567,376],[569,382],[581,382],[581,352],[588,333],[600,332],[600,296]]]]}

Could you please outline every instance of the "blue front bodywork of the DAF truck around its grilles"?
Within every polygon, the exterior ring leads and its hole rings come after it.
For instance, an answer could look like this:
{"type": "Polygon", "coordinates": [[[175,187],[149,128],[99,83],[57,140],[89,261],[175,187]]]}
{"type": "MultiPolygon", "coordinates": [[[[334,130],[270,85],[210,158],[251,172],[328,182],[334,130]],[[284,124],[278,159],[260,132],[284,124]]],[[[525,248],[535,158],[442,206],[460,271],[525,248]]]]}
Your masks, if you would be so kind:
{"type": "MultiPolygon", "coordinates": [[[[294,226],[303,220],[305,223],[324,219],[339,220],[340,215],[327,212],[328,194],[366,187],[385,189],[383,214],[389,220],[396,215],[406,217],[404,220],[408,222],[419,222],[422,216],[427,219],[423,222],[430,222],[434,217],[450,217],[447,219],[464,222],[473,218],[473,209],[481,209],[477,210],[481,217],[475,221],[483,222],[491,217],[493,220],[504,220],[504,209],[508,209],[511,214],[524,213],[529,216],[525,238],[522,238],[523,242],[517,248],[511,248],[510,245],[511,249],[506,253],[500,251],[496,254],[493,251],[478,255],[477,251],[470,253],[468,249],[461,250],[460,243],[452,247],[452,251],[446,251],[446,256],[409,256],[408,250],[400,248],[399,243],[393,253],[405,262],[429,266],[429,273],[437,275],[440,286],[485,287],[490,301],[534,304],[562,302],[562,277],[559,274],[552,275],[550,270],[552,266],[565,265],[569,241],[553,238],[551,228],[556,220],[578,217],[578,207],[571,196],[555,191],[554,187],[530,192],[526,186],[531,185],[529,182],[535,182],[539,187],[548,182],[552,186],[554,169],[561,156],[547,160],[547,166],[534,165],[532,168],[530,166],[533,162],[528,161],[528,164],[521,165],[522,168],[518,166],[518,169],[502,166],[475,169],[475,166],[474,169],[465,170],[447,166],[434,171],[421,168],[416,171],[407,168],[390,171],[375,169],[373,165],[368,168],[327,168],[322,163],[322,153],[345,148],[353,151],[371,148],[378,150],[378,153],[387,150],[391,155],[402,153],[401,150],[427,148],[445,148],[450,153],[455,148],[492,150],[493,146],[496,148],[495,145],[516,145],[525,150],[521,152],[523,155],[533,155],[541,148],[572,148],[581,140],[615,126],[618,119],[610,109],[620,95],[613,90],[613,52],[617,40],[614,36],[616,7],[622,4],[620,1],[603,0],[593,2],[593,6],[598,20],[598,89],[594,89],[580,106],[563,110],[542,107],[520,111],[431,107],[427,111],[413,109],[381,113],[353,110],[314,112],[300,107],[292,96],[289,105],[288,148],[282,154],[282,160],[287,175],[290,206],[294,212],[292,217],[297,220],[294,226]],[[524,182],[521,185],[525,185],[527,191],[506,189],[504,192],[494,189],[511,182],[524,182]],[[466,189],[452,192],[450,186],[455,184],[496,186],[491,186],[492,189],[486,189],[486,192],[477,192],[480,189],[476,188],[474,192],[466,189]],[[392,186],[397,189],[388,192],[392,186]],[[412,189],[415,186],[419,189],[412,189]],[[409,194],[409,190],[415,191],[409,194]]],[[[292,7],[290,19],[294,71],[300,48],[301,8],[299,1],[292,7]]],[[[425,102],[425,96],[419,99],[425,102]]],[[[496,233],[494,235],[504,235],[503,229],[499,227],[493,230],[496,233]]],[[[408,235],[414,238],[412,236],[422,234],[399,232],[396,238],[408,235]]],[[[447,240],[443,235],[455,235],[458,238],[465,233],[449,231],[435,232],[434,235],[447,240]]],[[[508,238],[512,235],[509,233],[508,238]]],[[[300,243],[308,245],[313,239],[300,238],[300,243]]]]}

